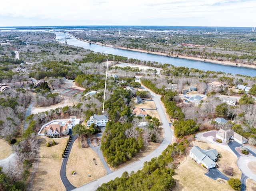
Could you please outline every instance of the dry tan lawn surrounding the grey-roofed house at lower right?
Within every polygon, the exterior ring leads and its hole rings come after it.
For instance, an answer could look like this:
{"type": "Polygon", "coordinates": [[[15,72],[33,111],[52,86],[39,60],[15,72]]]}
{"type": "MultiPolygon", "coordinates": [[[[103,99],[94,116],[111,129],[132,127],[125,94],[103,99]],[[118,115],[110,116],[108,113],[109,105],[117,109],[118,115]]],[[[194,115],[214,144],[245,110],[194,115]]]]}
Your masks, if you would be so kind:
{"type": "MultiPolygon", "coordinates": [[[[241,177],[241,172],[236,166],[236,156],[230,152],[224,150],[220,146],[216,146],[209,143],[194,142],[194,145],[199,146],[201,149],[213,149],[216,148],[222,157],[216,162],[220,168],[219,170],[223,173],[222,168],[233,167],[233,178],[241,177]]],[[[173,176],[176,179],[177,185],[173,191],[216,191],[216,190],[225,190],[225,191],[234,191],[227,181],[224,180],[224,183],[220,183],[219,179],[213,180],[204,175],[207,172],[206,169],[198,165],[189,157],[189,153],[186,156],[186,160],[175,170],[175,175],[173,176]]],[[[226,175],[228,176],[228,175],[226,175]]],[[[230,176],[228,176],[230,177],[230,176]]]]}

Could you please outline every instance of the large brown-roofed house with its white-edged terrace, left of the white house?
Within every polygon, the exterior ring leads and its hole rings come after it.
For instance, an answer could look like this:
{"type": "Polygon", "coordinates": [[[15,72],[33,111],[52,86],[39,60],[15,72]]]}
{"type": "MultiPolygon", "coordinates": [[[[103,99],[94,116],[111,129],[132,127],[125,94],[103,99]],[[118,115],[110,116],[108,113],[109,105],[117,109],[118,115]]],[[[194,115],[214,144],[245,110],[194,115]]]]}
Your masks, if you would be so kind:
{"type": "Polygon", "coordinates": [[[38,135],[45,136],[63,136],[67,135],[69,131],[76,124],[80,123],[80,119],[77,119],[76,116],[70,116],[69,119],[56,119],[44,124],[38,135]]]}

